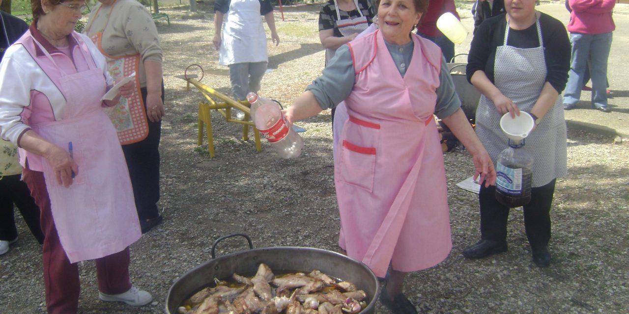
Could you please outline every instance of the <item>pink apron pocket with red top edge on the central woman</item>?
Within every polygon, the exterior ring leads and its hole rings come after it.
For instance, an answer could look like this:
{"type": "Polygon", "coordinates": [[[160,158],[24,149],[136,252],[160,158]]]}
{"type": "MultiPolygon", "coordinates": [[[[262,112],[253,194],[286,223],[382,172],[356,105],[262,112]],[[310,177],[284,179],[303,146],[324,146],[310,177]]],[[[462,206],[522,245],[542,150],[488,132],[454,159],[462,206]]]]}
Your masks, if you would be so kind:
{"type": "Polygon", "coordinates": [[[376,173],[376,148],[343,141],[338,180],[372,192],[376,173]]]}

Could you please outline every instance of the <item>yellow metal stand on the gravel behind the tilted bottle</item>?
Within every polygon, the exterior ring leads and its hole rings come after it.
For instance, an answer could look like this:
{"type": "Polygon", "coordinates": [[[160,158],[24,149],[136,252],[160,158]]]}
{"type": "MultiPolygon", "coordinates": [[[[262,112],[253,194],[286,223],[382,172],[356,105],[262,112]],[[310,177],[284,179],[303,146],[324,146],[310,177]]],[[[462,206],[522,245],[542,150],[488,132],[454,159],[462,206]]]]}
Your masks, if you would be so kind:
{"type": "Polygon", "coordinates": [[[258,129],[255,128],[253,122],[249,121],[249,102],[247,100],[242,100],[240,102],[231,99],[230,97],[218,92],[217,90],[212,89],[199,82],[195,78],[196,75],[177,75],[179,78],[183,78],[187,82],[187,90],[190,90],[190,84],[194,85],[200,92],[205,96],[208,102],[199,102],[199,134],[197,138],[197,144],[199,146],[203,145],[203,128],[206,128],[208,134],[208,151],[209,156],[214,157],[214,138],[212,135],[212,119],[210,112],[211,110],[218,111],[223,117],[225,117],[225,121],[240,123],[243,125],[242,131],[242,140],[247,141],[249,139],[249,126],[253,127],[253,138],[255,139],[255,150],[262,151],[262,144],[260,144],[260,133],[258,129]],[[222,100],[223,102],[215,102],[210,96],[216,97],[217,99],[222,100]],[[240,109],[245,112],[245,119],[231,119],[231,109],[240,109]]]}

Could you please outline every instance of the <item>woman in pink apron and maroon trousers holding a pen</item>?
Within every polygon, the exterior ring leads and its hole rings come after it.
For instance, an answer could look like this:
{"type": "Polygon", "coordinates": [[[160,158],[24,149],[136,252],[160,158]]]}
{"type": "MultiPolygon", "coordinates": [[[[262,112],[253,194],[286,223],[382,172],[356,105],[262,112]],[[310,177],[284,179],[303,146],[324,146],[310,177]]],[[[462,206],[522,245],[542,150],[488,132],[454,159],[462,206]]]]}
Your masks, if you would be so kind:
{"type": "MultiPolygon", "coordinates": [[[[141,236],[125,158],[101,100],[114,80],[74,31],[84,1],[34,0],[30,29],[0,63],[0,129],[19,147],[23,180],[41,208],[48,313],[77,313],[77,262],[96,259],[99,298],[145,305],[129,278],[141,236]]],[[[119,93],[128,97],[133,84],[119,93]]]]}

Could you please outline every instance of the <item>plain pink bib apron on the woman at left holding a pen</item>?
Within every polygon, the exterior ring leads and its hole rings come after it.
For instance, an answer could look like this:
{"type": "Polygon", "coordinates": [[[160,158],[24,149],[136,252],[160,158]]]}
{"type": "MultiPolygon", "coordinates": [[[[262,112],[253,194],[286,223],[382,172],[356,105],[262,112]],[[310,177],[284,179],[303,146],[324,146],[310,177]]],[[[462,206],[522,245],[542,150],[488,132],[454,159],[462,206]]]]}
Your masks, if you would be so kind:
{"type": "MultiPolygon", "coordinates": [[[[106,92],[103,69],[97,68],[84,51],[87,48],[81,38],[74,38],[89,70],[66,73],[33,38],[48,58],[45,62],[52,62],[61,74],[58,79],[57,73],[48,76],[64,94],[66,107],[64,119],[31,126],[42,138],[62,148],[72,142],[73,158],[79,166],[74,182],[65,188],[43,159],[52,216],[70,263],[120,252],[142,236],[125,157],[101,107],[100,99],[106,92]]],[[[33,45],[25,46],[36,62],[42,62],[33,45]]]]}

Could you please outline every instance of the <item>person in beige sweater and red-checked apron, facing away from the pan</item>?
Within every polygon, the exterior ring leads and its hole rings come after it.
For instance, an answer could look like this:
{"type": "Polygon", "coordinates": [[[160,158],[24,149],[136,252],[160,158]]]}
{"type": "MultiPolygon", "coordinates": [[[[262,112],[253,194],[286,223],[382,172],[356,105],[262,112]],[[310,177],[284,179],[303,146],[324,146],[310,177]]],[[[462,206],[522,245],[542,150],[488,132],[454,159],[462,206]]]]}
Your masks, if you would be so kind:
{"type": "Polygon", "coordinates": [[[162,48],[152,16],[135,0],[99,0],[84,33],[107,58],[114,79],[135,75],[135,92],[108,115],[125,153],[142,233],[162,222],[159,142],[164,117],[162,48]]]}

